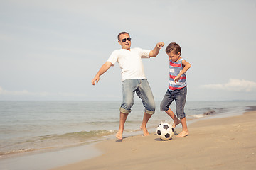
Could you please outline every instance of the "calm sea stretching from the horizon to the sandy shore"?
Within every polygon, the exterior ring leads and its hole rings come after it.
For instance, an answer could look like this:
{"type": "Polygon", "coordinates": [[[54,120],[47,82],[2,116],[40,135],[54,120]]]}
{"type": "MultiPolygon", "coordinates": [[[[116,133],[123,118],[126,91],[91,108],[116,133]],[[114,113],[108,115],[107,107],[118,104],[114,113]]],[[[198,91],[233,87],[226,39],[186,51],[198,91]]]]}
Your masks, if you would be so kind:
{"type": "MultiPolygon", "coordinates": [[[[147,128],[155,132],[161,122],[172,123],[159,109],[147,128]]],[[[114,138],[119,127],[121,101],[0,101],[0,159],[10,155],[89,145],[114,138]]],[[[186,101],[188,125],[206,118],[240,115],[256,101],[186,101]]],[[[171,109],[176,111],[176,104],[171,109]]],[[[135,101],[124,126],[124,137],[142,135],[144,115],[135,101]]]]}

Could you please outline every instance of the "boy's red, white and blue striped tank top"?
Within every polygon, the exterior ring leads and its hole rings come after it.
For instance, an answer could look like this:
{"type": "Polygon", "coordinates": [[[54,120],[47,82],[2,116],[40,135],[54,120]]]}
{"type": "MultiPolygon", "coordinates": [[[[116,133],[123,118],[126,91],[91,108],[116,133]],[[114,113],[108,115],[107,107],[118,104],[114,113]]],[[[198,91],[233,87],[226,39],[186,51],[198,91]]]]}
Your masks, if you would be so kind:
{"type": "Polygon", "coordinates": [[[174,82],[174,78],[178,76],[178,74],[181,72],[183,69],[182,67],[182,60],[178,60],[177,62],[172,62],[170,60],[170,66],[169,66],[169,74],[170,74],[170,79],[169,79],[169,91],[174,91],[176,89],[182,89],[185,87],[186,84],[186,73],[182,74],[180,79],[178,79],[178,82],[174,82]]]}

